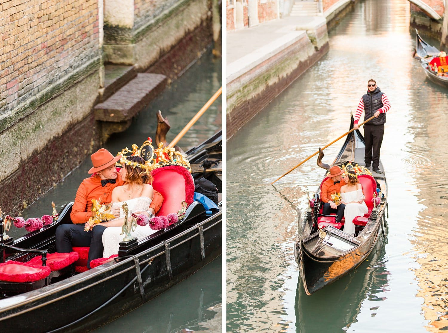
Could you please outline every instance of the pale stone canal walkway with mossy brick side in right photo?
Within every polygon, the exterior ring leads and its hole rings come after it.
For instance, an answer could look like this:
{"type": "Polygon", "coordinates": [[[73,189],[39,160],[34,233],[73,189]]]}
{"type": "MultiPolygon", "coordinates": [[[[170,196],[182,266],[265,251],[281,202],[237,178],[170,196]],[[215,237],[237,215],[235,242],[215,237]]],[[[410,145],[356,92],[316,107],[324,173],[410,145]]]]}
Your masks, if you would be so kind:
{"type": "Polygon", "coordinates": [[[289,16],[228,32],[227,139],[328,52],[327,29],[354,2],[325,4],[318,16],[289,16]]]}

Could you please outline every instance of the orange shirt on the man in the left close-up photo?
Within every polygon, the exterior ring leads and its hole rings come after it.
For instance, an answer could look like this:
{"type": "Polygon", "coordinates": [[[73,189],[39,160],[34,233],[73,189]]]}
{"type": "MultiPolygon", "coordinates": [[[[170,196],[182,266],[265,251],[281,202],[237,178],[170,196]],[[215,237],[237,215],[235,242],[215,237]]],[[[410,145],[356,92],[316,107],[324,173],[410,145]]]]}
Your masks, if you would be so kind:
{"type": "MultiPolygon", "coordinates": [[[[125,183],[120,173],[116,175],[115,184],[108,183],[105,186],[101,186],[101,178],[98,175],[84,179],[78,187],[75,203],[73,203],[70,213],[72,222],[75,224],[86,223],[92,216],[92,199],[99,199],[101,203],[110,203],[112,201],[112,190],[125,183]]],[[[154,197],[149,207],[153,208],[154,212],[158,212],[163,201],[162,195],[154,190],[154,197]]]]}

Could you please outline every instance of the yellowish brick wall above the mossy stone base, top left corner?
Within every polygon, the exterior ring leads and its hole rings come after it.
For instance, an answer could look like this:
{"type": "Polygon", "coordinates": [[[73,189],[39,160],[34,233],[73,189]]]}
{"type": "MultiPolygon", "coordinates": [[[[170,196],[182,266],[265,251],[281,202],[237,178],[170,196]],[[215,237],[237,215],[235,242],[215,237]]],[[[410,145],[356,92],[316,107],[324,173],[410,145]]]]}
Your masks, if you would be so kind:
{"type": "Polygon", "coordinates": [[[99,56],[97,0],[9,0],[0,11],[0,117],[99,56]]]}

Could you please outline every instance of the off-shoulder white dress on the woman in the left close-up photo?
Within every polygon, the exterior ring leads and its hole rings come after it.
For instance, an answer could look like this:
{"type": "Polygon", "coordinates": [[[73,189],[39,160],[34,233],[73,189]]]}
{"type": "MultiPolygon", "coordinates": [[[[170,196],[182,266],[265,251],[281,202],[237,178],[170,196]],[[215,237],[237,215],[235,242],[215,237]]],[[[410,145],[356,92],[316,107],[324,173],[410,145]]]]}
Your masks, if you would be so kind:
{"type": "MultiPolygon", "coordinates": [[[[129,199],[126,201],[116,202],[112,204],[112,207],[120,207],[120,217],[124,217],[125,213],[123,212],[123,203],[128,204],[129,216],[131,212],[140,212],[147,211],[149,209],[149,205],[152,200],[148,197],[138,197],[134,199],[129,199]]],[[[151,216],[150,216],[151,217],[151,216]]],[[[141,226],[137,225],[134,231],[131,231],[131,235],[137,237],[138,240],[143,239],[151,234],[154,234],[157,230],[153,230],[149,227],[149,225],[141,226]]],[[[103,233],[103,246],[104,252],[103,257],[108,258],[111,255],[118,254],[118,243],[123,241],[125,235],[121,235],[121,226],[120,227],[108,227],[104,230],[103,233]]]]}

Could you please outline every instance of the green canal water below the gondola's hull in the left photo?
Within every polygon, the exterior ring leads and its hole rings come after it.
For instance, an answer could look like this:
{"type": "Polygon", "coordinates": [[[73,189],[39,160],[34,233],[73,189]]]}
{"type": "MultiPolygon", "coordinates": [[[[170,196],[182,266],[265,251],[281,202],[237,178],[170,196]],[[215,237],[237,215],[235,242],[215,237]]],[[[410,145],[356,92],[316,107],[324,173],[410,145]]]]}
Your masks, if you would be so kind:
{"type": "Polygon", "coordinates": [[[151,302],[94,332],[220,332],[221,271],[219,256],[151,302]]]}

